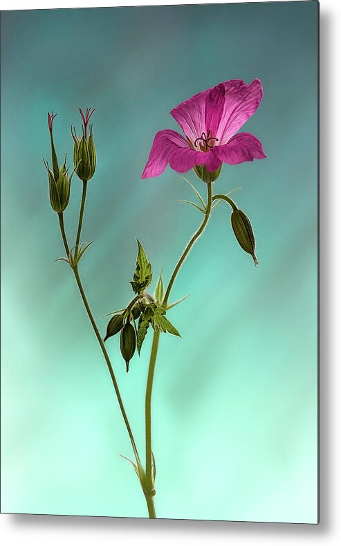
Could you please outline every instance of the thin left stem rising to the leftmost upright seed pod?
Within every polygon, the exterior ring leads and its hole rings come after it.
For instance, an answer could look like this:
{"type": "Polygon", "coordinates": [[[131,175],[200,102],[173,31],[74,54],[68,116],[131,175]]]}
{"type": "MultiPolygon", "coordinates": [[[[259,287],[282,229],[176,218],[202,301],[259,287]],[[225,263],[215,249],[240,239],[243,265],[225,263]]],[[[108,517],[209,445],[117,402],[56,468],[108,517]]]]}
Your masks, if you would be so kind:
{"type": "MultiPolygon", "coordinates": [[[[61,213],[58,216],[59,216],[59,225],[60,225],[60,230],[61,230],[61,233],[62,233],[62,239],[63,239],[63,242],[64,242],[65,250],[66,250],[66,253],[69,254],[68,242],[67,242],[66,233],[65,233],[65,230],[64,230],[63,215],[61,213]]],[[[89,316],[91,325],[93,327],[93,331],[95,332],[95,336],[98,339],[98,343],[100,344],[100,348],[102,349],[103,356],[104,356],[105,361],[107,363],[109,374],[111,376],[111,381],[113,382],[113,388],[115,389],[116,397],[118,399],[118,405],[120,406],[122,417],[123,417],[123,419],[125,421],[125,426],[127,427],[129,438],[130,438],[131,444],[133,446],[134,454],[136,455],[136,457],[138,457],[138,450],[136,448],[135,439],[133,437],[133,432],[132,432],[131,426],[129,424],[127,413],[125,411],[125,406],[124,406],[123,401],[122,401],[122,397],[121,397],[121,394],[120,394],[120,389],[118,388],[118,382],[116,380],[115,373],[113,372],[113,367],[111,365],[111,361],[110,361],[110,358],[109,358],[109,354],[107,353],[107,349],[105,348],[104,341],[102,340],[102,337],[100,335],[100,331],[98,330],[98,326],[97,326],[97,324],[95,322],[95,319],[93,318],[93,313],[91,311],[89,302],[86,299],[86,295],[85,295],[85,292],[84,292],[82,281],[80,280],[80,273],[78,272],[77,266],[75,267],[75,269],[73,269],[73,273],[75,275],[75,280],[77,282],[78,289],[80,290],[80,295],[82,296],[82,300],[83,300],[83,303],[84,303],[84,307],[86,309],[86,313],[89,316]]]]}

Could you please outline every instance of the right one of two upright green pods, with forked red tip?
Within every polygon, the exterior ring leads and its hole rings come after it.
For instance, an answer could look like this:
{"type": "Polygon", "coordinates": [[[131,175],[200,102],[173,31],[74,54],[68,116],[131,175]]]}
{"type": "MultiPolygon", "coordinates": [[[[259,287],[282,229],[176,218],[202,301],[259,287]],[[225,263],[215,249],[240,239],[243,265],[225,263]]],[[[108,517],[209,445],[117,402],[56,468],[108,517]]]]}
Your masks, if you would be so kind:
{"type": "Polygon", "coordinates": [[[81,180],[90,180],[95,173],[96,168],[96,152],[95,143],[93,141],[93,126],[91,125],[88,136],[88,124],[89,120],[95,110],[91,111],[90,108],[86,109],[86,114],[80,109],[80,115],[83,121],[83,135],[82,138],[78,138],[75,128],[71,127],[71,134],[73,137],[73,162],[75,163],[75,170],[78,178],[81,180]]]}

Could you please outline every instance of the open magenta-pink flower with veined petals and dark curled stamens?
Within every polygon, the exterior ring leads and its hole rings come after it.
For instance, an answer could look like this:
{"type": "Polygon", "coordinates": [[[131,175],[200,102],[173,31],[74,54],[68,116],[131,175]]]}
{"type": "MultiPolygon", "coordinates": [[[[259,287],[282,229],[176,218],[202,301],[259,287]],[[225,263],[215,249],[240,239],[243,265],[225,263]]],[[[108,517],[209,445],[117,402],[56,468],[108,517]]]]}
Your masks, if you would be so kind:
{"type": "Polygon", "coordinates": [[[185,100],[171,111],[185,138],[171,129],[159,131],[142,179],[163,173],[168,163],[176,172],[203,165],[208,172],[222,163],[237,165],[264,159],[263,147],[251,133],[237,133],[263,98],[260,80],[247,85],[228,80],[185,100]]]}

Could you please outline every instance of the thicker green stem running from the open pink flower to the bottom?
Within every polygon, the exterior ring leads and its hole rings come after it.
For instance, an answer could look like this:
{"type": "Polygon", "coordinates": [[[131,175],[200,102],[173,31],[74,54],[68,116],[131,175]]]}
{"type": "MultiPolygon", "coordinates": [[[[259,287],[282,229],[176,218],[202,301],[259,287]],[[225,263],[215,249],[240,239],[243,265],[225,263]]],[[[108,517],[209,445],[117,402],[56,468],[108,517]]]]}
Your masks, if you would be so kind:
{"type": "MultiPolygon", "coordinates": [[[[194,235],[190,239],[190,242],[187,244],[180,259],[178,260],[178,263],[175,266],[175,269],[172,273],[172,277],[170,278],[168,286],[167,286],[165,298],[163,299],[163,307],[167,306],[169,295],[172,291],[174,281],[176,280],[176,275],[178,275],[178,272],[180,271],[181,266],[183,265],[183,262],[185,262],[185,259],[188,253],[190,253],[190,250],[192,246],[194,245],[194,243],[196,242],[196,239],[199,239],[199,237],[203,233],[203,230],[205,230],[205,227],[208,224],[208,220],[210,219],[210,213],[212,209],[212,183],[208,183],[207,186],[208,186],[208,201],[205,208],[205,217],[201,223],[201,226],[199,226],[199,229],[196,230],[196,233],[194,233],[194,235]]],[[[153,457],[152,451],[151,451],[151,394],[153,391],[154,372],[155,372],[156,358],[158,356],[159,341],[160,341],[160,332],[154,331],[153,343],[151,345],[151,354],[150,354],[150,360],[149,360],[146,399],[145,399],[146,480],[147,480],[147,489],[149,491],[154,489],[154,479],[152,476],[152,468],[151,468],[152,457],[153,457]]],[[[149,518],[156,518],[155,509],[154,509],[154,497],[152,496],[148,497],[148,495],[145,495],[145,496],[147,500],[149,518]]]]}

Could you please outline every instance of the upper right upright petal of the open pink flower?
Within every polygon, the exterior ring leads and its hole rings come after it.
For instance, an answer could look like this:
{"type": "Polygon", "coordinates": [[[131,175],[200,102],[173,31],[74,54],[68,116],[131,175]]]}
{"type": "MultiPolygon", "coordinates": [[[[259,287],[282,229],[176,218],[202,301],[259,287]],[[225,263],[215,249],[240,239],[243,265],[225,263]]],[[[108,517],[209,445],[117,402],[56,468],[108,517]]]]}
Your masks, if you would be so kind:
{"type": "Polygon", "coordinates": [[[263,98],[260,80],[253,80],[247,85],[243,80],[225,82],[225,104],[216,133],[219,145],[227,143],[239,131],[241,126],[252,116],[263,98]]]}

